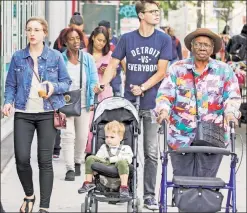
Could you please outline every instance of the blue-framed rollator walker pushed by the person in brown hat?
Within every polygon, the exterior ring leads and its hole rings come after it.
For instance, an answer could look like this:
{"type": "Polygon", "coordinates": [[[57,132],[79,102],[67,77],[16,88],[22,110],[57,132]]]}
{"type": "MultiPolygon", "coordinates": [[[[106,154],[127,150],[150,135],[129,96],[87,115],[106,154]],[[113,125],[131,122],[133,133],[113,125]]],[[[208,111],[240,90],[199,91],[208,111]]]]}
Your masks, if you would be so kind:
{"type": "Polygon", "coordinates": [[[217,212],[222,209],[223,195],[220,189],[227,189],[227,202],[225,212],[237,212],[236,209],[236,173],[235,168],[238,157],[235,153],[235,129],[230,122],[231,150],[209,146],[190,146],[177,150],[167,151],[166,124],[163,123],[164,153],[162,156],[162,180],[159,212],[167,212],[167,188],[173,188],[171,207],[178,207],[180,212],[217,212]],[[229,182],[225,183],[217,177],[189,177],[173,176],[172,181],[167,180],[168,153],[211,153],[231,155],[231,171],[229,182]]]}

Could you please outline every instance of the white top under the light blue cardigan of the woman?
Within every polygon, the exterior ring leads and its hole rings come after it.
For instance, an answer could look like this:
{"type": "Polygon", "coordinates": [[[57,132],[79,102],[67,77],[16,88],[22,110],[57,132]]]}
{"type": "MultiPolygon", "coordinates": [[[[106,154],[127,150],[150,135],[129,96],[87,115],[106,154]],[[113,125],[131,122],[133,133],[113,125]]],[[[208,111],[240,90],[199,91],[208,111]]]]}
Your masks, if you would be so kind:
{"type": "MultiPolygon", "coordinates": [[[[70,91],[80,88],[80,63],[74,65],[68,61],[67,70],[72,80],[70,91]]],[[[87,75],[83,64],[82,68],[82,90],[81,90],[81,106],[86,107],[86,92],[87,92],[87,75]]]]}

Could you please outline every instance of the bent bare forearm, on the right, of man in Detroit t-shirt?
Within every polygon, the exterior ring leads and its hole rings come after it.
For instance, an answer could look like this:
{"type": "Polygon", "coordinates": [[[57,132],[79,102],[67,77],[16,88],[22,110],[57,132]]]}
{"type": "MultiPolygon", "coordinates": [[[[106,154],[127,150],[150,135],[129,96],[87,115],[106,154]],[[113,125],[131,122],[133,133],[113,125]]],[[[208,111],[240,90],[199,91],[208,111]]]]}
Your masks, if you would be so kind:
{"type": "Polygon", "coordinates": [[[159,83],[166,76],[166,69],[168,65],[168,60],[159,60],[158,61],[158,70],[157,72],[149,78],[142,86],[145,88],[145,91],[152,88],[154,85],[159,83]]]}

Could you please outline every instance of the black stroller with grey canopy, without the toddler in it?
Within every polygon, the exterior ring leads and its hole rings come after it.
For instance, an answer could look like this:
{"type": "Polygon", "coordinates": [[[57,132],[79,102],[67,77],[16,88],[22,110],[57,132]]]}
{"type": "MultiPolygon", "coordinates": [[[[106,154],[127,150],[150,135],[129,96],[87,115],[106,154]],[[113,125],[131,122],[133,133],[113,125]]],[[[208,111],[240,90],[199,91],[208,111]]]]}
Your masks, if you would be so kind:
{"type": "Polygon", "coordinates": [[[101,163],[94,163],[92,170],[96,188],[89,191],[81,205],[81,212],[98,212],[98,202],[116,204],[118,202],[128,202],[127,212],[140,212],[140,200],[137,197],[137,150],[138,135],[140,134],[139,111],[140,98],[137,97],[135,106],[128,100],[121,97],[106,98],[97,103],[95,96],[94,118],[91,125],[93,133],[92,152],[96,154],[104,140],[104,126],[106,123],[117,120],[124,123],[125,135],[124,144],[129,145],[133,151],[133,161],[129,168],[128,187],[130,198],[119,197],[120,177],[114,165],[106,166],[101,163]]]}

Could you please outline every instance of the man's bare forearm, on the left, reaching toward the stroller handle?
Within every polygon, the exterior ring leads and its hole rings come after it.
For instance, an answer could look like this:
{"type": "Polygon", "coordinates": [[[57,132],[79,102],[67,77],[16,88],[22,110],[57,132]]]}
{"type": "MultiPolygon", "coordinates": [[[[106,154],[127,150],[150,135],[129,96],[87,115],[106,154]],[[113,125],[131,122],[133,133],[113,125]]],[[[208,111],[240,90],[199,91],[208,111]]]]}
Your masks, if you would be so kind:
{"type": "Polygon", "coordinates": [[[117,66],[120,63],[119,59],[111,58],[108,66],[105,69],[103,79],[101,80],[100,84],[107,85],[111,82],[111,80],[116,76],[117,74],[117,66]]]}

